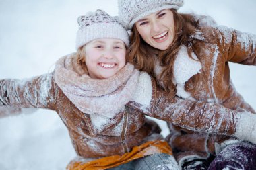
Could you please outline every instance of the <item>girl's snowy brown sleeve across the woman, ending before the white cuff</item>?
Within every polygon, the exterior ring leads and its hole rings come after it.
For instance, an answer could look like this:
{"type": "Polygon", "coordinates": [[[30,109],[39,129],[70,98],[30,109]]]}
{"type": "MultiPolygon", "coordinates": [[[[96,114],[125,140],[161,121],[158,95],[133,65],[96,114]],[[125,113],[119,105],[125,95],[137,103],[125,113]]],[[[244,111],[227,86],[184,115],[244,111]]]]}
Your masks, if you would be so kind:
{"type": "Polygon", "coordinates": [[[150,103],[136,97],[137,100],[130,101],[129,105],[148,116],[197,132],[232,136],[236,131],[237,112],[222,105],[170,97],[166,91],[156,87],[153,79],[151,88],[139,87],[138,93],[145,96],[150,93],[150,103]]]}

